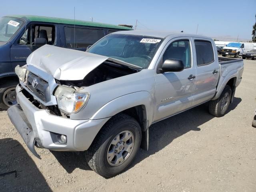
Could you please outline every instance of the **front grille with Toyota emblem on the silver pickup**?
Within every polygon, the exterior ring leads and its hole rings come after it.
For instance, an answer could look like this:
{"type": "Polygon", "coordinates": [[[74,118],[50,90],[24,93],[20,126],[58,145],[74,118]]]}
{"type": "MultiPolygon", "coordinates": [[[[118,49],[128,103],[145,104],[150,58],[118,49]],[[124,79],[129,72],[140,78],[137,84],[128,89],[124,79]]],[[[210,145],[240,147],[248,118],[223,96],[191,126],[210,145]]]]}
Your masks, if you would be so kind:
{"type": "Polygon", "coordinates": [[[32,74],[31,72],[28,73],[27,87],[42,101],[50,101],[50,89],[48,82],[36,76],[35,74],[32,74]],[[37,84],[34,83],[34,86],[33,81],[37,82],[37,84]]]}

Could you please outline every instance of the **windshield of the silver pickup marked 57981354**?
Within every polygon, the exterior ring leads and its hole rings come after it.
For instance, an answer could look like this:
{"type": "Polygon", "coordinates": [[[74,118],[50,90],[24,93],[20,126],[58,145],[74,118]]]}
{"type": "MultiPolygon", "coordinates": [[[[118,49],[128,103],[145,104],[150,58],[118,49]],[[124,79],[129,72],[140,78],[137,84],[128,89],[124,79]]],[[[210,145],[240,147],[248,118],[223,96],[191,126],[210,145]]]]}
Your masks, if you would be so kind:
{"type": "Polygon", "coordinates": [[[162,38],[157,37],[110,34],[94,44],[87,52],[147,68],[161,43],[162,38]]]}

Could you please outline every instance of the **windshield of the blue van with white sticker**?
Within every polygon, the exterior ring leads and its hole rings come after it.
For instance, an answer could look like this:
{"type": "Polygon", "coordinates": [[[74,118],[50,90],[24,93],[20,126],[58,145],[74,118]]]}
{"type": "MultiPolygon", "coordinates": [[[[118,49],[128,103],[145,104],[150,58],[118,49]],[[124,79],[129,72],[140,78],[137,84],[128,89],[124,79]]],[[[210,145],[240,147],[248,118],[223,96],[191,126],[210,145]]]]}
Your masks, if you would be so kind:
{"type": "Polygon", "coordinates": [[[18,18],[0,18],[0,44],[8,42],[23,25],[23,21],[18,18]]]}

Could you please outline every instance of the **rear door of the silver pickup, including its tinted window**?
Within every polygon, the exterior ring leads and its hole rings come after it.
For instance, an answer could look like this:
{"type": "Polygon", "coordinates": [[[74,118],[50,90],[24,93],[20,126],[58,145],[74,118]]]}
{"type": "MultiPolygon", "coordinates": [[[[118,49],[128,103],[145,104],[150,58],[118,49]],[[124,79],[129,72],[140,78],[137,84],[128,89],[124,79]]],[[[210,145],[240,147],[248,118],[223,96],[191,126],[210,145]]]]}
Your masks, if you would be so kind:
{"type": "Polygon", "coordinates": [[[193,38],[196,51],[196,86],[193,106],[204,103],[214,97],[219,80],[218,55],[210,40],[193,38]]]}

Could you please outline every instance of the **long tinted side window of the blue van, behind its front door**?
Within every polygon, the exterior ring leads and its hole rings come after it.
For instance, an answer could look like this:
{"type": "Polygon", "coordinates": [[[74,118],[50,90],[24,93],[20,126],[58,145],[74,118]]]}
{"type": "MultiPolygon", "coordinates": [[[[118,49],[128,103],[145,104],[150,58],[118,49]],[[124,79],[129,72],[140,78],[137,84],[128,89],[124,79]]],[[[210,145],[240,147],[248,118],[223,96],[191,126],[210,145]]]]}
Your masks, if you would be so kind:
{"type": "Polygon", "coordinates": [[[64,31],[68,48],[86,48],[104,37],[102,29],[76,28],[74,41],[74,27],[64,27],[64,31]]]}

